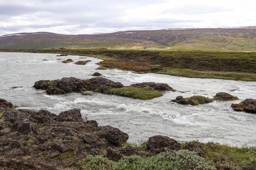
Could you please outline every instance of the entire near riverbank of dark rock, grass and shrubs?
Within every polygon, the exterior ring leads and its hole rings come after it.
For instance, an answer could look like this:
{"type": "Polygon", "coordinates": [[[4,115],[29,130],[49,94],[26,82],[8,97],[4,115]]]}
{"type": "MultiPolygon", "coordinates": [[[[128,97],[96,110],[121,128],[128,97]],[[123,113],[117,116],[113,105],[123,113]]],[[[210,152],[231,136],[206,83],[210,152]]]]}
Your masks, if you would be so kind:
{"type": "Polygon", "coordinates": [[[41,170],[255,170],[256,148],[177,142],[152,136],[140,145],[112,126],[86,120],[80,109],[55,115],[16,109],[0,99],[0,167],[41,170]]]}

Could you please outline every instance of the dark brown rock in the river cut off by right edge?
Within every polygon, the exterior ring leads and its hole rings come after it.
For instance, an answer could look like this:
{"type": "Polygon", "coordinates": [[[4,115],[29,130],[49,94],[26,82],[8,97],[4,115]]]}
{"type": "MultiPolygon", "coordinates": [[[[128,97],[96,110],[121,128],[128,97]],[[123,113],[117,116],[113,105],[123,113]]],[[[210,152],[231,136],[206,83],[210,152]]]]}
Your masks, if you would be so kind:
{"type": "Polygon", "coordinates": [[[256,113],[256,100],[254,99],[245,99],[243,102],[239,104],[232,104],[231,107],[233,110],[247,113],[256,113]]]}

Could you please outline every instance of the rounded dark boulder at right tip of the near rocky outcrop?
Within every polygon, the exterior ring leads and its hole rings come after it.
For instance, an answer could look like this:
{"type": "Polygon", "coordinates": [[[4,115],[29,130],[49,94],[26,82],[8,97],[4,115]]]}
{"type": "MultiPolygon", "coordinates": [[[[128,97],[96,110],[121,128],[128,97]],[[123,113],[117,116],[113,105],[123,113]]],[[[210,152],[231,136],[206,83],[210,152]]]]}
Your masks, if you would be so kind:
{"type": "Polygon", "coordinates": [[[129,138],[126,133],[112,126],[101,127],[98,132],[98,136],[105,138],[107,141],[112,142],[115,145],[121,145],[122,142],[127,141],[129,138]]]}

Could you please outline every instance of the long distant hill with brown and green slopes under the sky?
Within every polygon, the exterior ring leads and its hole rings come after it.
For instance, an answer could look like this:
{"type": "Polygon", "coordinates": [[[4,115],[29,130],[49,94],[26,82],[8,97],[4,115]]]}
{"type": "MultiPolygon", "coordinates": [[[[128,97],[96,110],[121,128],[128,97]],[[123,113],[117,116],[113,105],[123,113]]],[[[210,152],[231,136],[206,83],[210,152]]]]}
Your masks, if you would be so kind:
{"type": "Polygon", "coordinates": [[[38,32],[0,36],[0,49],[31,48],[256,51],[256,27],[164,29],[79,35],[38,32]]]}

